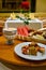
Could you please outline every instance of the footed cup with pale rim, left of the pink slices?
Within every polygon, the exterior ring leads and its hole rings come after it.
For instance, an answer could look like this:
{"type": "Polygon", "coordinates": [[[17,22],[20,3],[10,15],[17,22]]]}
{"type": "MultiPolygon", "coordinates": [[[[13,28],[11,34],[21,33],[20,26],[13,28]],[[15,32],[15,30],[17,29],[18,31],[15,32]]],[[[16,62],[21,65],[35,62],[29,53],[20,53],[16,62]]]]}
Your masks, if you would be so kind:
{"type": "Polygon", "coordinates": [[[3,28],[3,34],[4,34],[5,39],[7,40],[6,44],[14,43],[16,32],[17,32],[16,28],[3,28]]]}

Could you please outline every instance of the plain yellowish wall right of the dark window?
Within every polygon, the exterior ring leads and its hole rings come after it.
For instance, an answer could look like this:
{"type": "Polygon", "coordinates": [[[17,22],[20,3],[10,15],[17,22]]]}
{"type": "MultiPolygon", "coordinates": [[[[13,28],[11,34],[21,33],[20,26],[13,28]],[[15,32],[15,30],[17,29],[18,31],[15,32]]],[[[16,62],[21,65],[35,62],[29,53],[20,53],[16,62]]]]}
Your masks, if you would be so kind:
{"type": "Polygon", "coordinates": [[[36,12],[46,12],[46,0],[36,0],[36,12]]]}

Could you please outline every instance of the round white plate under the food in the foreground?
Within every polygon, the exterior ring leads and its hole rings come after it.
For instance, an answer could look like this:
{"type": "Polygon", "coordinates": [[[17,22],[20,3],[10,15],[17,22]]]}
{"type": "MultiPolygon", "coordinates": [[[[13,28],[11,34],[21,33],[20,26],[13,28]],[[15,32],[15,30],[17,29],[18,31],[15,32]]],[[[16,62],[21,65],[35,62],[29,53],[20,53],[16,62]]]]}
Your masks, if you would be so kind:
{"type": "Polygon", "coordinates": [[[20,44],[16,45],[15,48],[14,48],[14,52],[15,52],[18,56],[20,56],[20,57],[22,57],[22,58],[25,58],[25,59],[29,59],[29,60],[44,60],[44,59],[46,59],[46,45],[41,44],[41,43],[37,43],[37,44],[39,44],[41,47],[45,47],[45,54],[44,54],[44,55],[42,55],[42,53],[37,53],[36,56],[22,54],[22,53],[21,53],[21,47],[22,47],[24,45],[28,45],[29,43],[31,43],[31,42],[24,42],[24,43],[20,43],[20,44]]]}

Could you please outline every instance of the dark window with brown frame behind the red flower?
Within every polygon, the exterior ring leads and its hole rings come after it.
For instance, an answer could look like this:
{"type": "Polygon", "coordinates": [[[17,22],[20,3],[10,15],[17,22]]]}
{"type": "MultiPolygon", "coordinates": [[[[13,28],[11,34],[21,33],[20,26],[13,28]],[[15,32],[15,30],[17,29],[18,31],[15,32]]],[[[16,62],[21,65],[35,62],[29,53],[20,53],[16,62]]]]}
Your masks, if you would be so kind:
{"type": "MultiPolygon", "coordinates": [[[[25,12],[35,12],[35,0],[27,0],[30,2],[30,6],[28,10],[24,10],[25,12]]],[[[0,12],[20,12],[21,11],[21,2],[22,0],[1,0],[0,1],[0,12]]],[[[25,3],[24,3],[25,4],[25,3]]],[[[28,2],[26,3],[26,5],[28,2]]],[[[27,8],[27,6],[26,6],[27,8]]]]}

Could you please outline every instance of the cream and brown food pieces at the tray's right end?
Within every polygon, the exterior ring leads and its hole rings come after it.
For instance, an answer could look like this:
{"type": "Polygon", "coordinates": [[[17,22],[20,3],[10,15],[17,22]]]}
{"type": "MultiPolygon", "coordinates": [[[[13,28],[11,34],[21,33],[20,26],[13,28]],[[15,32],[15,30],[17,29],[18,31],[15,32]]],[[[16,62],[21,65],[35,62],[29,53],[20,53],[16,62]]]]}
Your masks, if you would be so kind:
{"type": "Polygon", "coordinates": [[[33,38],[40,39],[40,40],[46,40],[46,30],[40,30],[34,32],[33,38]]]}

